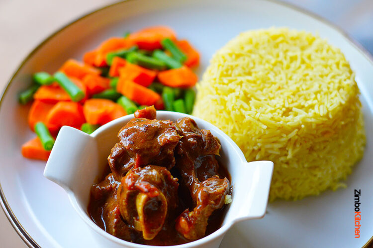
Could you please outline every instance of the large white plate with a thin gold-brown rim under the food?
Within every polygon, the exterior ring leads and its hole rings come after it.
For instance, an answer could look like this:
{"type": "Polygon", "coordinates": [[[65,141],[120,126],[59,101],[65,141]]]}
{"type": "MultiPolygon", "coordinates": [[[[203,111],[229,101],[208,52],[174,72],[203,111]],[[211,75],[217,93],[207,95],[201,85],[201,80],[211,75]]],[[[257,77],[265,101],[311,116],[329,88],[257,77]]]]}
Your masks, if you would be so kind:
{"type": "Polygon", "coordinates": [[[263,0],[129,0],[95,11],[59,30],[22,63],[1,99],[0,183],[2,207],[26,244],[91,247],[91,232],[65,191],[43,177],[45,163],[22,158],[20,146],[34,136],[27,126],[29,106],[16,95],[30,74],[53,72],[68,58],[81,59],[109,36],[156,24],[172,26],[201,52],[199,75],[211,55],[239,32],[288,26],[318,32],[339,47],[356,72],[362,92],[367,148],[348,177],[346,189],[296,202],[271,203],[262,220],[233,228],[221,247],[361,247],[373,235],[373,61],[341,31],[293,7],[263,0]],[[354,238],[354,189],[361,189],[361,238],[354,238]]]}

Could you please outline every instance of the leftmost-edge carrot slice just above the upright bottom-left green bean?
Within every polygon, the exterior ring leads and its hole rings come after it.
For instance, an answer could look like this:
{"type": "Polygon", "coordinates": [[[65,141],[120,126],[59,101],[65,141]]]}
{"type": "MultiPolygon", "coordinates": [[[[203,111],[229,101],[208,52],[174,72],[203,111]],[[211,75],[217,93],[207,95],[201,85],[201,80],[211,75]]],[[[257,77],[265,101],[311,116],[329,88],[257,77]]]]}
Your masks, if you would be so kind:
{"type": "MultiPolygon", "coordinates": [[[[46,103],[40,100],[35,100],[28,112],[28,125],[31,130],[34,131],[35,124],[39,121],[46,123],[48,113],[53,108],[54,103],[46,103]]],[[[49,124],[47,125],[51,133],[56,133],[58,131],[58,126],[49,124]]]]}

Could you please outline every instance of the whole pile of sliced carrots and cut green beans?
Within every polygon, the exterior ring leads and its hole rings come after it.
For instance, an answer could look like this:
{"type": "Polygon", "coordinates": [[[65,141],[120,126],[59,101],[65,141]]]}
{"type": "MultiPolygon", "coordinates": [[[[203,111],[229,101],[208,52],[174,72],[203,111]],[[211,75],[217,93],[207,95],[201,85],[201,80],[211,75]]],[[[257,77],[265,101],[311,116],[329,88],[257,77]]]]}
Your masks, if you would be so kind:
{"type": "Polygon", "coordinates": [[[110,37],[83,56],[67,60],[54,74],[36,72],[34,84],[20,92],[21,104],[33,101],[28,113],[32,131],[38,123],[40,139],[22,146],[26,158],[47,160],[51,142],[62,126],[92,133],[100,125],[154,105],[158,110],[190,113],[197,81],[188,68],[199,54],[177,40],[166,26],[153,26],[124,37],[110,37]],[[52,137],[52,138],[53,138],[52,137]],[[50,138],[50,137],[49,137],[50,138]]]}

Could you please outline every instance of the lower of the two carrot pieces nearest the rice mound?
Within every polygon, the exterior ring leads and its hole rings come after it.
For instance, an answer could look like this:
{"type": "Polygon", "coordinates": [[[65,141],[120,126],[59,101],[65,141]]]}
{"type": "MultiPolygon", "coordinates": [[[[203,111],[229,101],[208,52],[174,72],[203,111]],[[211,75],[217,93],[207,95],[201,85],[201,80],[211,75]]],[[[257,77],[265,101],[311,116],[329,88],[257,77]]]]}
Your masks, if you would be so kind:
{"type": "Polygon", "coordinates": [[[193,87],[198,81],[197,75],[186,66],[159,72],[158,79],[170,87],[193,87]]]}

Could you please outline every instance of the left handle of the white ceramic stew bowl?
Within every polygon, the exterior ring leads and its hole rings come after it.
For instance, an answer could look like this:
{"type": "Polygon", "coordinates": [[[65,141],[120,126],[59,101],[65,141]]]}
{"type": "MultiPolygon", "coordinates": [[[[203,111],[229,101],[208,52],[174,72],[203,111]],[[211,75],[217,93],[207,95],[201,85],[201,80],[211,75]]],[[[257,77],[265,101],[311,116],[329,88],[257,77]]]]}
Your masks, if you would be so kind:
{"type": "Polygon", "coordinates": [[[76,128],[63,126],[44,169],[44,176],[66,191],[74,191],[80,166],[95,156],[95,140],[76,128]]]}

